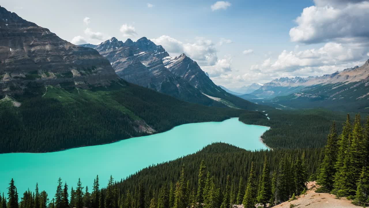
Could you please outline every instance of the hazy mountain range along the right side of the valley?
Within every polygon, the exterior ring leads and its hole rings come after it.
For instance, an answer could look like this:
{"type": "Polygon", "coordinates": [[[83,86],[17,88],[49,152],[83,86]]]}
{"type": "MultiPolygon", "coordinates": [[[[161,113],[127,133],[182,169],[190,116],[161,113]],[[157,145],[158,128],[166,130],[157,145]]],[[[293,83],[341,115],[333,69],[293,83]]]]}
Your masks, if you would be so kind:
{"type": "Polygon", "coordinates": [[[369,60],[317,77],[279,78],[265,83],[252,95],[269,99],[279,107],[325,107],[342,111],[369,112],[369,60]]]}

